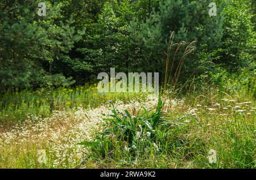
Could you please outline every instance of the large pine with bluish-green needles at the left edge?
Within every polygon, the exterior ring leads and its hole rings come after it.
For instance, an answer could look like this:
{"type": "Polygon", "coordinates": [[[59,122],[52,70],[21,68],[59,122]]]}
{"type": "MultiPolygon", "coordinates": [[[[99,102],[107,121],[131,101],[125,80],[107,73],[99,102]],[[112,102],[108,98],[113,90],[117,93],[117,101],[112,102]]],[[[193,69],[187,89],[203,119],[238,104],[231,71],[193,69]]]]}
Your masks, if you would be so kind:
{"type": "Polygon", "coordinates": [[[61,16],[60,3],[46,3],[47,16],[40,17],[37,14],[38,2],[0,2],[1,91],[11,87],[55,85],[53,82],[56,85],[72,83],[60,74],[52,74],[52,63],[65,57],[83,32],[75,32],[75,28],[70,26],[72,19],[65,24],[56,20],[61,16]]]}

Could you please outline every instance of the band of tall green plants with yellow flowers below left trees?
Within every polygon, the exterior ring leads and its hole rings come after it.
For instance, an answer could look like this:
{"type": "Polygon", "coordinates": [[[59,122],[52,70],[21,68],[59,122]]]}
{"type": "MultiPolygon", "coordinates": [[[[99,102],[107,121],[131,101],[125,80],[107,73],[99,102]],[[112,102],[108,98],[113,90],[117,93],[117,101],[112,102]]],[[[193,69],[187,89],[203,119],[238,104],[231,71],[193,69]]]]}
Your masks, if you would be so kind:
{"type": "Polygon", "coordinates": [[[144,95],[145,93],[98,93],[96,84],[6,93],[0,95],[0,124],[10,127],[27,119],[28,114],[44,118],[55,110],[96,108],[109,100],[127,102],[139,97],[143,101],[144,95]]]}

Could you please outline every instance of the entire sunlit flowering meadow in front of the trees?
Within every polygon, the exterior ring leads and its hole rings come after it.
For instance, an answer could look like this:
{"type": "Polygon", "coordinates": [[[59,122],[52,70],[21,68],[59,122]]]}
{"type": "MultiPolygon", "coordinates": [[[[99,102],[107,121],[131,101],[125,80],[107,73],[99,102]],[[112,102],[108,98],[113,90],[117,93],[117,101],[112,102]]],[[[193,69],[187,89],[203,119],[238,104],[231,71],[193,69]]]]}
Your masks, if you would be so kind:
{"type": "Polygon", "coordinates": [[[0,167],[255,168],[253,96],[211,87],[170,97],[98,93],[96,84],[7,94],[0,167]]]}

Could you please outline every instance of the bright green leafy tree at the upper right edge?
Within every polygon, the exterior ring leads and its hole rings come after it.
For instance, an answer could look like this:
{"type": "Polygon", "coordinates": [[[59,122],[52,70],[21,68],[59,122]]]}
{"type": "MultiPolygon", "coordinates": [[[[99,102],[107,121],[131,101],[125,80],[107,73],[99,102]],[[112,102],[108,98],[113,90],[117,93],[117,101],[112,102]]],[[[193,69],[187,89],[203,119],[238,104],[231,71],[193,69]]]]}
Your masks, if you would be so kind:
{"type": "Polygon", "coordinates": [[[256,58],[256,36],[250,11],[250,3],[247,1],[225,1],[224,35],[213,62],[224,64],[230,72],[240,71],[241,68],[255,68],[251,63],[256,58]]]}

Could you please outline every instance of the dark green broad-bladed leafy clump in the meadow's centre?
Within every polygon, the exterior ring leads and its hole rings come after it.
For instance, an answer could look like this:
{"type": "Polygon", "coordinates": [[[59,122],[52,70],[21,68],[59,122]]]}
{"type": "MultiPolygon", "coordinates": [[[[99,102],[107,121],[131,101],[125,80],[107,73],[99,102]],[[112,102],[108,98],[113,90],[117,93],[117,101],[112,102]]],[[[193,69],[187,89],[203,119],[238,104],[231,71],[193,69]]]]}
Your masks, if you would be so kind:
{"type": "Polygon", "coordinates": [[[164,125],[160,117],[162,106],[159,98],[156,112],[150,113],[143,108],[136,115],[131,115],[127,110],[123,114],[113,106],[112,118],[105,119],[109,128],[99,134],[94,142],[82,142],[80,145],[91,146],[96,156],[112,157],[117,161],[120,157],[124,161],[134,161],[144,153],[157,152],[159,144],[166,144],[164,139],[167,136],[161,128],[164,125]]]}

